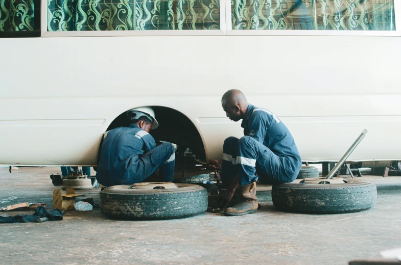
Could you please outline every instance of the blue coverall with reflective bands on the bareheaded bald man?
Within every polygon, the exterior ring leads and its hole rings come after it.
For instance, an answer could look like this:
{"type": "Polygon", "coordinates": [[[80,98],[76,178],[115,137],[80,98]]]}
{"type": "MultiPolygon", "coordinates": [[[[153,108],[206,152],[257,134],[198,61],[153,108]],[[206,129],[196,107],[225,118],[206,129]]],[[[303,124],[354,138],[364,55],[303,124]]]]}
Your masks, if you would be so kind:
{"type": "Polygon", "coordinates": [[[268,184],[294,181],[302,162],[286,125],[268,110],[249,104],[241,126],[244,137],[224,141],[222,182],[229,183],[237,173],[241,186],[258,178],[268,184]]]}

